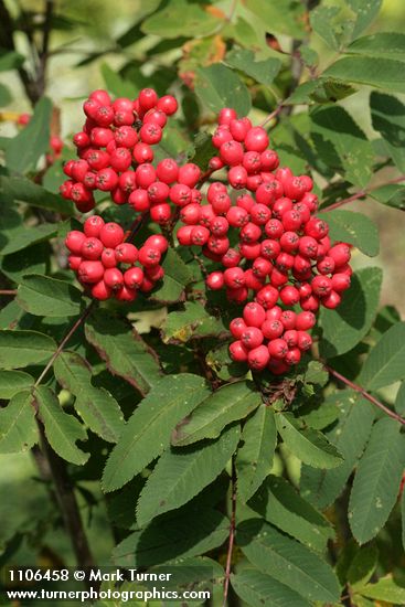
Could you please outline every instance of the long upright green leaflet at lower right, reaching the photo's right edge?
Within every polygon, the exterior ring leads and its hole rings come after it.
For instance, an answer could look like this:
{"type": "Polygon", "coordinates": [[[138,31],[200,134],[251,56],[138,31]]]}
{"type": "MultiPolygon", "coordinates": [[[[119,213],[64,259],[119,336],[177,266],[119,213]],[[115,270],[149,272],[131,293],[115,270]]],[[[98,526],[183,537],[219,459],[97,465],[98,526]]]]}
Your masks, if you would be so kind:
{"type": "Polygon", "coordinates": [[[405,443],[395,419],[373,427],[354,477],[349,523],[360,544],[372,540],[385,524],[398,494],[405,464],[405,443]]]}

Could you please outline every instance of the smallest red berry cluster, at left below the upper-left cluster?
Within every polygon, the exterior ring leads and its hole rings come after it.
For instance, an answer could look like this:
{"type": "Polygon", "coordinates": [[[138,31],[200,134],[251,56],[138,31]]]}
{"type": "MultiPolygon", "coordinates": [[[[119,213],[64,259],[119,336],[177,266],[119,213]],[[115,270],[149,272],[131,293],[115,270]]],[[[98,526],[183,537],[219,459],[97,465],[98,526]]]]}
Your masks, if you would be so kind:
{"type": "Polygon", "coordinates": [[[164,236],[149,236],[139,249],[125,236],[120,225],[105,223],[99,215],[85,221],[84,232],[74,230],[66,236],[70,267],[96,299],[134,301],[138,291],[149,292],[163,278],[164,236]]]}

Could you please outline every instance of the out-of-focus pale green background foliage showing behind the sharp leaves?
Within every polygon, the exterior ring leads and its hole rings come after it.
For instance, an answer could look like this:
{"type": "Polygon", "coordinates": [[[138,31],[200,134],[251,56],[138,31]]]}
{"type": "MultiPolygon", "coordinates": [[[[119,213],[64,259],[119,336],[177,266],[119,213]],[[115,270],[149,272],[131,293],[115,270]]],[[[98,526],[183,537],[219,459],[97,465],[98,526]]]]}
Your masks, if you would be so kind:
{"type": "MultiPolygon", "coordinates": [[[[274,58],[281,61],[281,71],[266,90],[256,90],[257,103],[252,113],[254,120],[262,120],[268,115],[285,96],[288,95],[291,36],[303,32],[300,21],[300,2],[284,0],[284,6],[294,6],[297,10],[297,21],[280,22],[276,26],[277,38],[266,41],[266,28],[262,20],[252,13],[247,14],[244,2],[224,0],[212,2],[205,12],[198,13],[198,19],[206,21],[206,28],[213,31],[209,38],[194,39],[193,31],[183,28],[182,23],[168,23],[172,28],[170,38],[159,36],[159,24],[153,22],[149,13],[160,7],[160,10],[171,3],[183,0],[60,0],[51,34],[51,57],[46,94],[61,110],[61,135],[65,140],[73,131],[79,130],[83,123],[81,109],[82,100],[88,92],[107,86],[110,92],[116,89],[135,94],[137,89],[147,86],[150,79],[160,94],[170,92],[180,93],[183,99],[185,121],[195,131],[203,125],[210,126],[213,115],[209,111],[200,114],[193,104],[194,97],[188,86],[193,85],[195,68],[221,61],[226,50],[232,46],[232,36],[242,36],[248,40],[247,49],[255,51],[255,60],[274,58]],[[210,14],[221,11],[225,15],[232,14],[233,24],[225,23],[220,31],[212,28],[210,14]],[[146,19],[146,21],[145,21],[146,19]],[[231,28],[233,30],[231,31],[231,28]],[[281,51],[281,52],[280,52],[281,51]],[[178,76],[178,73],[180,77],[178,76]],[[149,79],[150,78],[150,79],[149,79]]],[[[273,0],[271,0],[273,2],[273,0]]],[[[15,19],[22,19],[38,25],[38,35],[41,30],[43,3],[38,0],[8,0],[6,2],[10,13],[15,19]]],[[[199,4],[209,2],[189,2],[198,11],[199,4]]],[[[278,4],[278,2],[275,2],[278,4]]],[[[343,0],[324,2],[330,8],[347,10],[343,0]]],[[[290,15],[290,13],[288,13],[290,15]]],[[[200,25],[201,28],[201,21],[200,25]]],[[[404,31],[405,9],[403,0],[384,0],[379,18],[365,33],[379,31],[404,31]]],[[[31,28],[30,28],[31,29],[31,28]]],[[[34,28],[35,30],[35,28],[34,28]]],[[[211,31],[210,30],[210,31],[211,31]]],[[[267,32],[268,33],[268,32],[267,32]]],[[[270,32],[273,33],[273,32],[270,32]]],[[[364,35],[363,34],[363,35],[364,35]]],[[[319,72],[329,65],[335,53],[317,34],[310,35],[310,47],[319,55],[319,72]]],[[[28,70],[36,57],[29,56],[26,35],[22,32],[15,36],[17,51],[28,57],[28,70]]],[[[313,55],[316,56],[316,55],[313,55]]],[[[311,67],[311,57],[308,56],[311,67]]],[[[308,68],[306,68],[308,70],[308,68]]],[[[0,84],[10,92],[10,100],[1,113],[31,111],[31,104],[21,85],[17,72],[1,72],[0,84]]],[[[247,84],[257,87],[254,81],[247,84]]],[[[355,95],[341,100],[340,105],[348,109],[358,124],[369,135],[373,136],[367,106],[370,88],[362,87],[355,95]]],[[[398,95],[401,98],[401,95],[398,95]]],[[[404,96],[403,96],[404,97],[404,96]]],[[[296,107],[295,113],[301,108],[296,107]]],[[[18,130],[12,121],[0,123],[0,135],[11,137],[18,130]]],[[[375,135],[375,134],[374,134],[375,135]]],[[[71,152],[65,152],[68,158],[71,152]]],[[[390,179],[390,170],[383,179],[390,179]]],[[[56,189],[58,174],[49,180],[50,189],[56,189]]],[[[405,312],[405,215],[396,209],[380,206],[371,199],[356,201],[348,209],[361,210],[371,216],[380,227],[381,254],[373,259],[363,255],[354,256],[354,266],[380,265],[384,267],[384,284],[382,305],[391,303],[405,312]]],[[[106,511],[102,500],[98,482],[86,481],[79,484],[81,505],[84,520],[89,533],[90,544],[98,555],[98,562],[107,562],[113,537],[109,526],[105,524],[106,511]],[[90,492],[89,492],[90,491],[90,492]]],[[[0,456],[0,546],[17,531],[28,531],[13,560],[19,564],[55,564],[73,563],[68,539],[61,531],[60,513],[52,509],[47,499],[47,491],[38,478],[34,465],[29,454],[0,456]]],[[[15,537],[15,536],[14,536],[15,537]]]]}

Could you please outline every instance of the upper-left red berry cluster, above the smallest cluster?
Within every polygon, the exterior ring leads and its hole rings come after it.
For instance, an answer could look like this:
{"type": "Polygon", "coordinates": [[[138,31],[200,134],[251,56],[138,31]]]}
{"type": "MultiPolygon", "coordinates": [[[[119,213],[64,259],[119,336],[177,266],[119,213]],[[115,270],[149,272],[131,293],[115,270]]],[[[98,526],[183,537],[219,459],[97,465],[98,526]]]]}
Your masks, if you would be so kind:
{"type": "Polygon", "coordinates": [[[73,137],[79,160],[66,162],[64,172],[70,179],[61,187],[62,195],[87,213],[95,206],[94,190],[110,192],[116,204],[128,202],[140,212],[153,206],[153,221],[169,221],[168,181],[159,172],[172,180],[179,168],[174,162],[158,171],[151,162],[152,146],[161,140],[168,116],[178,109],[175,98],[159,98],[152,88],[143,88],[135,100],[111,102],[106,90],[94,90],[83,109],[86,121],[73,137]]]}

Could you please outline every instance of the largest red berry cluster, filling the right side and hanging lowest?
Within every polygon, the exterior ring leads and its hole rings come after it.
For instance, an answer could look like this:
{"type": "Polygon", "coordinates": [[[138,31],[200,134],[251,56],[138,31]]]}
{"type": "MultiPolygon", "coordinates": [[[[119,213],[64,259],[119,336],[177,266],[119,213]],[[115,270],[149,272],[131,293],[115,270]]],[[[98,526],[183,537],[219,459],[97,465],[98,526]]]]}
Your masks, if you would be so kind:
{"type": "Polygon", "coordinates": [[[207,276],[211,289],[226,288],[236,303],[254,294],[244,318],[231,323],[232,358],[283,373],[311,347],[307,330],[320,305],[335,308],[349,288],[350,247],[331,244],[328,224],[315,216],[312,180],[279,168],[265,129],[225,108],[212,141],[219,155],[211,168],[226,168],[231,188],[245,192],[233,202],[225,183],[211,183],[207,204],[181,210],[177,236],[225,268],[207,276]]]}

